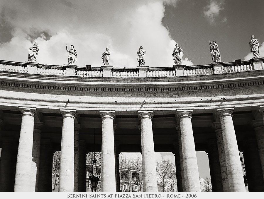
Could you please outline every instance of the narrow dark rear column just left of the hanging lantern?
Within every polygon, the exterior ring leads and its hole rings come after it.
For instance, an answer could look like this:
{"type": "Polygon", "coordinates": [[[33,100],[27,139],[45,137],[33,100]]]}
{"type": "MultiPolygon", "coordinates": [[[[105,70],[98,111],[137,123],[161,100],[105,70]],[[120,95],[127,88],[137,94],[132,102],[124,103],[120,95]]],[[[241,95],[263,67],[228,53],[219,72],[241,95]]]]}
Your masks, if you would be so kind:
{"type": "Polygon", "coordinates": [[[78,191],[86,191],[86,150],[85,141],[79,140],[78,191]]]}

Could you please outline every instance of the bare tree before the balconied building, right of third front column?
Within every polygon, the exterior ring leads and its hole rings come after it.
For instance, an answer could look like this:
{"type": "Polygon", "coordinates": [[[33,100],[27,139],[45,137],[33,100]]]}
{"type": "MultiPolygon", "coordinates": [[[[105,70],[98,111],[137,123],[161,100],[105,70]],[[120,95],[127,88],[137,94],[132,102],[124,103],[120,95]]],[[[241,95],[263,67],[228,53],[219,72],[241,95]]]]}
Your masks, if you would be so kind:
{"type": "Polygon", "coordinates": [[[127,190],[135,191],[133,187],[137,185],[138,191],[141,191],[142,186],[142,162],[138,155],[134,158],[128,158],[121,153],[119,157],[119,174],[120,186],[127,184],[127,190]]]}

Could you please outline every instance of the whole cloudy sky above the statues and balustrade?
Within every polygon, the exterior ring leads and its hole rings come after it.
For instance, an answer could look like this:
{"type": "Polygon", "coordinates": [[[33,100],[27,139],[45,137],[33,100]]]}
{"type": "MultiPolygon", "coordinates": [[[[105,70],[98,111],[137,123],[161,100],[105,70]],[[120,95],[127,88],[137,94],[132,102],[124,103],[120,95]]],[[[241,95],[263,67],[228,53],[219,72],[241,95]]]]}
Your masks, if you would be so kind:
{"type": "Polygon", "coordinates": [[[263,0],[1,0],[0,59],[27,61],[33,40],[40,64],[67,64],[65,45],[77,50],[77,65],[99,67],[106,46],[114,67],[174,65],[175,43],[183,64],[210,64],[209,40],[222,61],[251,59],[255,35],[264,56],[263,0]]]}

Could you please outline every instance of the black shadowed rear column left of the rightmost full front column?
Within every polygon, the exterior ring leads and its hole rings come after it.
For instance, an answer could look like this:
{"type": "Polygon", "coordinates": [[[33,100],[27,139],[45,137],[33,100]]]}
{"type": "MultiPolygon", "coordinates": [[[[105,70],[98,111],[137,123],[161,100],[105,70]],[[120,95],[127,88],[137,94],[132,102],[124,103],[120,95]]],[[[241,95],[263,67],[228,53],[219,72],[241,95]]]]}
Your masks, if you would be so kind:
{"type": "Polygon", "coordinates": [[[212,191],[223,191],[221,168],[215,139],[208,140],[208,160],[211,175],[212,191]]]}

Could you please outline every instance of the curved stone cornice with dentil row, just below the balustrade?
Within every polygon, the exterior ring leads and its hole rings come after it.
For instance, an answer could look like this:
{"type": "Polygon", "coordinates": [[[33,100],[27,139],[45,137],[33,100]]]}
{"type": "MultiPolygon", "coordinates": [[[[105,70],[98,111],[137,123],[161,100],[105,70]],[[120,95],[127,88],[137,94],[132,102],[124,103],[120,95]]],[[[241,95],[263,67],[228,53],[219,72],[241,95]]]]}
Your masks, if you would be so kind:
{"type": "Polygon", "coordinates": [[[252,76],[252,73],[251,76],[245,76],[243,73],[236,73],[236,75],[233,75],[234,73],[232,73],[208,75],[210,78],[208,78],[208,76],[155,78],[155,81],[153,81],[152,78],[110,78],[109,80],[109,78],[59,78],[58,76],[43,77],[41,75],[28,74],[13,75],[3,74],[2,72],[0,73],[0,87],[102,92],[163,92],[240,88],[264,85],[264,71],[261,71],[261,74],[259,74],[260,71],[250,72],[254,72],[254,75],[252,76]],[[145,79],[145,81],[142,81],[142,79],[145,79]],[[123,80],[123,82],[120,80],[123,80]]]}

